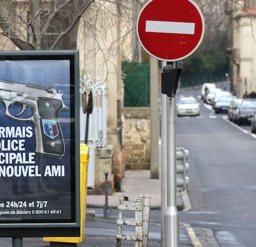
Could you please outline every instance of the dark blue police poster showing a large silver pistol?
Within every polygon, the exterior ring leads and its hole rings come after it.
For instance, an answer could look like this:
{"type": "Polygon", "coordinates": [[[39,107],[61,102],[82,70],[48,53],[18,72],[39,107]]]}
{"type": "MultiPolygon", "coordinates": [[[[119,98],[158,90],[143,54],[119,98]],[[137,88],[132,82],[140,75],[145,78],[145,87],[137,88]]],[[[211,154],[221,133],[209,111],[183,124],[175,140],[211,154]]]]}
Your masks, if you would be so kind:
{"type": "Polygon", "coordinates": [[[75,221],[72,66],[0,56],[0,223],[75,221]]]}

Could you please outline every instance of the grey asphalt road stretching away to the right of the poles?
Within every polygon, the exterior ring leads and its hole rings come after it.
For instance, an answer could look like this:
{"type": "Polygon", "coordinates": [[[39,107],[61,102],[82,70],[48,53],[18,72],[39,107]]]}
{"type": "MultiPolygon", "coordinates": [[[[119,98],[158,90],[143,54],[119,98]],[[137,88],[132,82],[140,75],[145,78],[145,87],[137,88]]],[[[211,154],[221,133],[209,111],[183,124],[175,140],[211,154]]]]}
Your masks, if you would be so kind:
{"type": "MultiPolygon", "coordinates": [[[[199,96],[200,90],[179,92],[199,96]]],[[[256,246],[256,136],[201,102],[198,117],[177,117],[176,143],[189,150],[192,210],[180,221],[210,228],[221,247],[256,246]]]]}

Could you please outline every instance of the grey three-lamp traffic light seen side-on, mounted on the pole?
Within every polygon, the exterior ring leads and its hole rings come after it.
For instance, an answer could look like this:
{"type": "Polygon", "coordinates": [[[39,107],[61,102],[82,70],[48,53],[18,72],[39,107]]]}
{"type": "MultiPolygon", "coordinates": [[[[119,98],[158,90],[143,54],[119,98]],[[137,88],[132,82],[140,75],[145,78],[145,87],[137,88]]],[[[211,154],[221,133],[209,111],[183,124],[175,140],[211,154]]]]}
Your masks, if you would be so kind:
{"type": "Polygon", "coordinates": [[[189,178],[186,176],[189,169],[186,163],[188,154],[188,150],[183,147],[176,148],[176,191],[184,191],[189,183],[189,178]]]}

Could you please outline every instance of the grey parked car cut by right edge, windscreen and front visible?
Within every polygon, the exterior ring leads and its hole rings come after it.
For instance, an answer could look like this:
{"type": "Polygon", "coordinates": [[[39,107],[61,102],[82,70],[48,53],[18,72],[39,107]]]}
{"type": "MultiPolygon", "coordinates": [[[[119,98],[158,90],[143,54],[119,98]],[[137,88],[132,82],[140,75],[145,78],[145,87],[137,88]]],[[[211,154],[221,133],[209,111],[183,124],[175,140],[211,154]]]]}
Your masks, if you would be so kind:
{"type": "Polygon", "coordinates": [[[256,99],[243,99],[234,112],[234,122],[238,125],[251,123],[255,111],[256,99]]]}

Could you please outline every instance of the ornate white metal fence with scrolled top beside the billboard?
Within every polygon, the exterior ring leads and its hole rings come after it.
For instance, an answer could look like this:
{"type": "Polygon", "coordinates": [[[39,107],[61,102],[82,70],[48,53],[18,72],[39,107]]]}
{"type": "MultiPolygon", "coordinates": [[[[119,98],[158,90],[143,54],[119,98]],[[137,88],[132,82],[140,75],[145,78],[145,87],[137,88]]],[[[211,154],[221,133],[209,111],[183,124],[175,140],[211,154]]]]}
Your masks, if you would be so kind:
{"type": "MultiPolygon", "coordinates": [[[[89,129],[87,145],[90,149],[90,161],[88,165],[87,187],[95,186],[95,148],[105,147],[107,144],[107,93],[106,83],[101,83],[98,79],[93,82],[90,76],[80,79],[80,94],[85,91],[93,94],[93,111],[89,115],[89,129]]],[[[82,101],[81,101],[82,102],[82,101]]],[[[83,113],[80,105],[80,142],[85,142],[87,113],[83,113]]]]}

